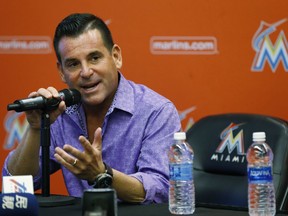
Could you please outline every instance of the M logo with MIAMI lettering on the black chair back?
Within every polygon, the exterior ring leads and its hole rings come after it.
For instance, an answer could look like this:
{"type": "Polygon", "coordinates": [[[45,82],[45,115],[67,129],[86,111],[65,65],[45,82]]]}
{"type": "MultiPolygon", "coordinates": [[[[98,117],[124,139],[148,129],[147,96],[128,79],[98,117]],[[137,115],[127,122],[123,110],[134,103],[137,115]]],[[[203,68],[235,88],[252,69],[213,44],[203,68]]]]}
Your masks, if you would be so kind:
{"type": "Polygon", "coordinates": [[[240,130],[236,134],[236,136],[233,135],[233,131],[238,129],[243,124],[244,123],[231,123],[227,128],[222,131],[222,133],[220,134],[221,142],[217,147],[215,153],[211,156],[211,160],[232,163],[244,163],[246,153],[244,149],[243,130],[240,130]]]}

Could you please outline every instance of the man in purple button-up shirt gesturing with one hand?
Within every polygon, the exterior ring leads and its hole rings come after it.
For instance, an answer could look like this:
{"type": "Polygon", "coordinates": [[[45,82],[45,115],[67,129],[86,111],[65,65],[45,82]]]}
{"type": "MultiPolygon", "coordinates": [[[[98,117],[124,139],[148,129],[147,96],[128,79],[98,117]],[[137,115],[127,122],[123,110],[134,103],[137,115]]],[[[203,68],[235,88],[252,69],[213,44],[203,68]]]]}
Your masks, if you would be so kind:
{"type": "MultiPolygon", "coordinates": [[[[79,90],[82,101],[70,107],[62,101],[50,113],[50,172],[62,169],[71,196],[111,183],[123,201],[166,202],[167,151],[181,128],[174,105],[125,79],[121,49],[94,15],[66,17],[56,29],[54,49],[63,82],[79,90]]],[[[37,96],[59,94],[53,87],[29,94],[37,96]]],[[[8,155],[3,175],[31,174],[38,189],[41,110],[26,116],[28,132],[8,155]]]]}

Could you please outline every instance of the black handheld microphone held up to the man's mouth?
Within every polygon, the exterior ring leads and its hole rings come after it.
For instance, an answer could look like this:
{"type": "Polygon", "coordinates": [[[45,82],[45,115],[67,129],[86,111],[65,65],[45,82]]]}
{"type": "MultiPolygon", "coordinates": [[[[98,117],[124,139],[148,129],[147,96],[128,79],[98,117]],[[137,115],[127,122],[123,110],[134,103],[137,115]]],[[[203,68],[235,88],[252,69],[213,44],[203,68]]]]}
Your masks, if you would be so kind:
{"type": "Polygon", "coordinates": [[[66,106],[79,103],[81,100],[81,94],[76,89],[63,89],[59,91],[59,97],[47,99],[39,96],[35,98],[26,98],[14,101],[13,104],[7,106],[7,110],[15,110],[16,112],[22,112],[26,110],[43,109],[46,111],[52,111],[57,109],[61,101],[65,101],[66,106]]]}

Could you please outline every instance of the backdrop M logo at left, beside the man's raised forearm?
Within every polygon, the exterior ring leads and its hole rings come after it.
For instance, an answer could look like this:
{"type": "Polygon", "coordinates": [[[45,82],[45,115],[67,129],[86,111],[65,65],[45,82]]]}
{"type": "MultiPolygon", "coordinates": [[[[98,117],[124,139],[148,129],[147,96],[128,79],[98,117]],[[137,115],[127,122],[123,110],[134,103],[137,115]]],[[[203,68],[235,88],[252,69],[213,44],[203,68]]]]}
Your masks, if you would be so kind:
{"type": "Polygon", "coordinates": [[[17,146],[28,128],[25,114],[8,112],[4,120],[4,128],[7,132],[4,149],[9,150],[17,146]]]}

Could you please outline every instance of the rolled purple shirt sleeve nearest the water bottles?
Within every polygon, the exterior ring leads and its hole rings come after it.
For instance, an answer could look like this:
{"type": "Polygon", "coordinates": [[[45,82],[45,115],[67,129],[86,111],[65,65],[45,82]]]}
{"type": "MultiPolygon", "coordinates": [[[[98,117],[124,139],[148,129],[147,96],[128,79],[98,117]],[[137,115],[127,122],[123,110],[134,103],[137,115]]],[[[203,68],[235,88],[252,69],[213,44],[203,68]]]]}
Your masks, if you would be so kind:
{"type": "Polygon", "coordinates": [[[172,103],[164,104],[149,119],[137,161],[138,172],[130,175],[142,182],[146,192],[144,203],[168,201],[168,150],[174,133],[180,130],[180,118],[172,103]]]}

